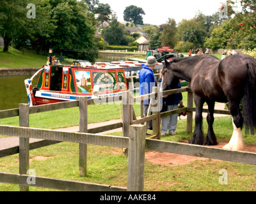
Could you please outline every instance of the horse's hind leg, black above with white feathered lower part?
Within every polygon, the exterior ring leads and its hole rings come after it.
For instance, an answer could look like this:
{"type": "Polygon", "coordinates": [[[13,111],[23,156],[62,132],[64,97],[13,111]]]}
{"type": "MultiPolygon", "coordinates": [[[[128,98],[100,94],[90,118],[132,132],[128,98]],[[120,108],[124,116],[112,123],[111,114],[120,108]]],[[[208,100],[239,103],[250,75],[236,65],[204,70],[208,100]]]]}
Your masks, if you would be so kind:
{"type": "Polygon", "coordinates": [[[241,133],[241,128],[243,126],[243,117],[239,110],[239,102],[229,102],[229,108],[233,118],[234,131],[230,141],[228,142],[227,145],[223,147],[223,149],[243,150],[244,143],[243,136],[241,133]]]}

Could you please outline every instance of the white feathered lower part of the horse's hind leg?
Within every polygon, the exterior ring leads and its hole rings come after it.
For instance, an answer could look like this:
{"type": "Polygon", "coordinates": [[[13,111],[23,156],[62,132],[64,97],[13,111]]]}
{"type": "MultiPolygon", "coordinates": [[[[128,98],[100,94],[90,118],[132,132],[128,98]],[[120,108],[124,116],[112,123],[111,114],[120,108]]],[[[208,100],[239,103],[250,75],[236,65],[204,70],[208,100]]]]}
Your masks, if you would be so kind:
{"type": "Polygon", "coordinates": [[[234,126],[234,131],[233,135],[227,145],[223,147],[223,149],[230,149],[230,150],[243,150],[244,149],[244,142],[243,142],[243,136],[241,133],[241,128],[237,128],[236,125],[234,124],[233,121],[233,126],[234,126]]]}

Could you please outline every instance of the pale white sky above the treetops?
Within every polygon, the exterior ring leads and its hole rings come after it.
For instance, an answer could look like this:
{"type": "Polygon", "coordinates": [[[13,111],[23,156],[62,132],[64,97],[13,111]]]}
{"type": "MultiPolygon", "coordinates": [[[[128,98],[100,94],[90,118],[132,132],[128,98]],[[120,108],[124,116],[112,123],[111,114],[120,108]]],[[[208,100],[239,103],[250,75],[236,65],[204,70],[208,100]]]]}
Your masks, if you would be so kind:
{"type": "Polygon", "coordinates": [[[145,11],[144,24],[161,25],[174,18],[178,24],[182,19],[195,17],[198,11],[204,15],[212,15],[219,11],[221,3],[226,0],[99,0],[99,3],[108,3],[113,12],[116,12],[119,22],[124,22],[124,10],[127,6],[137,6],[145,11]]]}

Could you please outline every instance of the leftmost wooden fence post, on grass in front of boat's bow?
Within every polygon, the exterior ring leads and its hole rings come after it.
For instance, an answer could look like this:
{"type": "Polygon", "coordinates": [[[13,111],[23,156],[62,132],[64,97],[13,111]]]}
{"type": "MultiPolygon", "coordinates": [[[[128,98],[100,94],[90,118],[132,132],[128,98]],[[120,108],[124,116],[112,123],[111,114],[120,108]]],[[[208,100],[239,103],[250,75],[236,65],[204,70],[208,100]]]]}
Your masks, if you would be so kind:
{"type": "MultiPolygon", "coordinates": [[[[19,105],[19,126],[29,128],[29,105],[19,105]]],[[[19,138],[19,173],[27,174],[29,170],[29,138],[19,138]]],[[[29,191],[28,186],[20,186],[20,191],[29,191]]]]}

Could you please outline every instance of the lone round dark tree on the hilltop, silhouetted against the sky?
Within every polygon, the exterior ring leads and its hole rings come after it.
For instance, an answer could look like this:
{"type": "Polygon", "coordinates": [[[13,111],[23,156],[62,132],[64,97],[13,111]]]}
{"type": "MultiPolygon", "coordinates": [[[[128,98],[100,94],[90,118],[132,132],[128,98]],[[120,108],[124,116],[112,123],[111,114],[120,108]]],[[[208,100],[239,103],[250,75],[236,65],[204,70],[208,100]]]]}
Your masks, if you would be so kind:
{"type": "Polygon", "coordinates": [[[124,20],[133,22],[135,25],[143,25],[142,15],[145,15],[143,9],[134,5],[127,6],[124,10],[124,20]]]}

